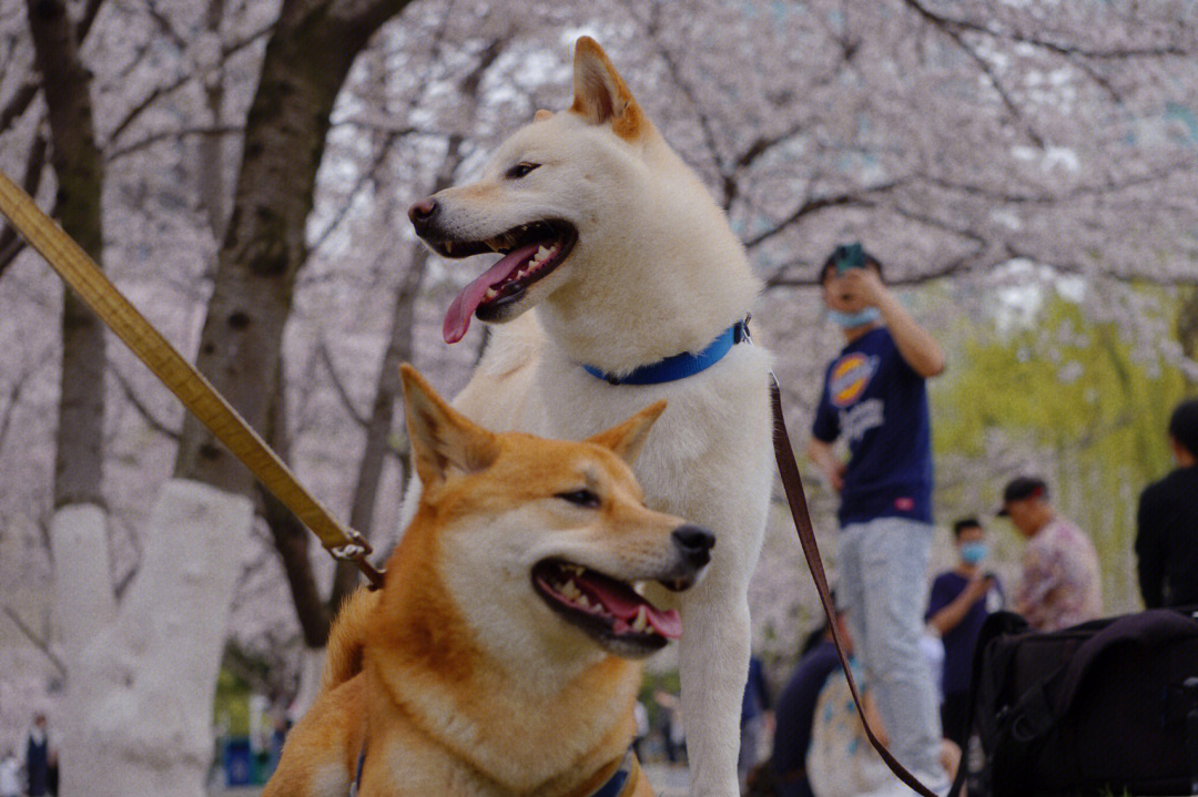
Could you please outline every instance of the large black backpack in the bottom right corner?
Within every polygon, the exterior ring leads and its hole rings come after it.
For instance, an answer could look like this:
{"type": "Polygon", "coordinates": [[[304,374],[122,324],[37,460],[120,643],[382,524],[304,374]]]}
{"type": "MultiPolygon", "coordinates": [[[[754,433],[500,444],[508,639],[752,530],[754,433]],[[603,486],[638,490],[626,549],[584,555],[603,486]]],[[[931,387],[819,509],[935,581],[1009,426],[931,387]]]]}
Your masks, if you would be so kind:
{"type": "Polygon", "coordinates": [[[952,795],[967,777],[970,797],[1198,795],[1198,608],[1051,633],[999,612],[970,692],[952,795]]]}

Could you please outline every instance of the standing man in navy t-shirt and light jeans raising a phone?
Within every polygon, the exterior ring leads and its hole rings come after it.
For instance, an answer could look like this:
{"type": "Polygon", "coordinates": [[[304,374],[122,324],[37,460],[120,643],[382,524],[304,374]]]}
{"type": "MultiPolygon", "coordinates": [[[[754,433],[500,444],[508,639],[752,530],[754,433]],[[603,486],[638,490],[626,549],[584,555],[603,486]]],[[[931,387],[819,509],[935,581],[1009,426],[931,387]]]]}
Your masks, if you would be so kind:
{"type": "Polygon", "coordinates": [[[944,370],[944,353],[887,288],[882,264],[860,243],[837,247],[819,284],[845,347],[825,372],[807,455],[840,493],[840,595],[891,753],[943,792],[936,685],[919,640],[933,534],[925,382],[944,370]],[[837,440],[848,444],[847,463],[837,440]]]}

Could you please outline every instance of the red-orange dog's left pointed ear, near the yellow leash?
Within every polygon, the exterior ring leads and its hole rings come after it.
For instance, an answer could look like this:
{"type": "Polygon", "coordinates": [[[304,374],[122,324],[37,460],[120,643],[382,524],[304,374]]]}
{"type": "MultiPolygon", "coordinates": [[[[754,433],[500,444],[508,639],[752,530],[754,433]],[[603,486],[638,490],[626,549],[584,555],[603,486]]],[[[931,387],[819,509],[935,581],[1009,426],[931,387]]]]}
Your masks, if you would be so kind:
{"type": "Polygon", "coordinates": [[[494,433],[450,407],[411,365],[404,363],[399,370],[412,461],[425,487],[495,462],[500,445],[494,433]]]}

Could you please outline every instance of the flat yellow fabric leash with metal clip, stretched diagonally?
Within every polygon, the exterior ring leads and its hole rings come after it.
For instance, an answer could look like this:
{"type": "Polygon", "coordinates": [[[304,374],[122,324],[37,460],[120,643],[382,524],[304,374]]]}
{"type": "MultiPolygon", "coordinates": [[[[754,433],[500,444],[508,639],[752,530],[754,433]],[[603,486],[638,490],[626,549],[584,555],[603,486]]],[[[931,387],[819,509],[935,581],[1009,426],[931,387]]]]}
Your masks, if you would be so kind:
{"type": "Polygon", "coordinates": [[[334,558],[352,560],[365,573],[371,588],[382,586],[382,573],[367,561],[371,548],[365,539],[338,522],[303,488],[286,463],[225,397],[138,312],[87,253],[4,172],[0,172],[0,213],[8,217],[13,227],[41,253],[62,281],[74,288],[183,406],[320,537],[334,558]]]}

